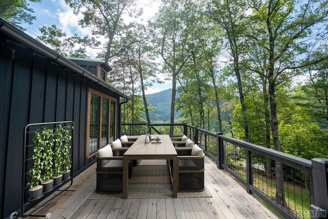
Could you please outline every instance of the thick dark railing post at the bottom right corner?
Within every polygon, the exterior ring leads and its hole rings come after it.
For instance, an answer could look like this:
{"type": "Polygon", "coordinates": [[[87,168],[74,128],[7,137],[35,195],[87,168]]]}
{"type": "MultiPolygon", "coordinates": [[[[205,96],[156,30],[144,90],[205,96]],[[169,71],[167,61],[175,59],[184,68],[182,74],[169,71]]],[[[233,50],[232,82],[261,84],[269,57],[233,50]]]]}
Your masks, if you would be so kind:
{"type": "Polygon", "coordinates": [[[327,210],[328,210],[327,172],[328,172],[327,158],[312,159],[312,188],[310,188],[310,191],[312,192],[311,192],[310,210],[316,210],[318,212],[318,215],[323,215],[323,214],[327,215],[327,210]]]}

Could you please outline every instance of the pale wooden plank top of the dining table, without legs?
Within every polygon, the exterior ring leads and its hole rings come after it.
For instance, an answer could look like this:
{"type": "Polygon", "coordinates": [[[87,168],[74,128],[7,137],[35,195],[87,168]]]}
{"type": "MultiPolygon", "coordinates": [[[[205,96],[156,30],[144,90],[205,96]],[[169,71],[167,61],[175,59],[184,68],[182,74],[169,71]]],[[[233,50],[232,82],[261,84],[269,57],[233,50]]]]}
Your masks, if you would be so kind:
{"type": "Polygon", "coordinates": [[[146,135],[141,135],[131,147],[124,153],[124,156],[144,156],[140,159],[146,159],[148,156],[177,155],[169,135],[153,135],[160,138],[160,144],[145,143],[146,135]]]}

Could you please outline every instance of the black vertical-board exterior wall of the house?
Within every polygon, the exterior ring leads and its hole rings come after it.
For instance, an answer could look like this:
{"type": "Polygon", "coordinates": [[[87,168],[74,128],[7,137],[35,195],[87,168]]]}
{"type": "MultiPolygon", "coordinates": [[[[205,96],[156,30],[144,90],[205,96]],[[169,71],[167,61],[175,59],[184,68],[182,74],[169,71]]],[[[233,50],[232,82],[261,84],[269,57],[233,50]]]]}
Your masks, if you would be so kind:
{"type": "Polygon", "coordinates": [[[0,40],[0,51],[0,217],[6,218],[20,207],[25,126],[73,121],[73,173],[78,174],[95,161],[86,157],[88,89],[117,103],[119,96],[22,47],[0,40]]]}

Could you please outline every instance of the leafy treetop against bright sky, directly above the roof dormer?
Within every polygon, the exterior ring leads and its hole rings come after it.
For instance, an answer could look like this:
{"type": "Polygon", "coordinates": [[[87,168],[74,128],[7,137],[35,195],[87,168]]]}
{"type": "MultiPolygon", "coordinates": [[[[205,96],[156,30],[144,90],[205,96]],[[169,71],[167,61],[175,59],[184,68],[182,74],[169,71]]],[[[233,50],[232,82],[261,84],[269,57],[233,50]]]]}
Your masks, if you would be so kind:
{"type": "Polygon", "coordinates": [[[107,39],[103,50],[103,54],[99,57],[104,57],[105,63],[109,63],[109,59],[117,56],[134,41],[129,41],[129,35],[131,34],[131,28],[134,26],[131,24],[125,24],[123,15],[135,18],[140,15],[141,11],[136,10],[134,0],[65,0],[66,4],[69,4],[74,9],[74,13],[81,12],[83,18],[79,21],[79,25],[83,28],[89,27],[92,35],[105,36],[107,39]],[[81,10],[81,9],[84,10],[81,10]],[[124,44],[116,45],[116,49],[113,50],[113,45],[118,44],[119,39],[126,37],[127,41],[124,44]]]}

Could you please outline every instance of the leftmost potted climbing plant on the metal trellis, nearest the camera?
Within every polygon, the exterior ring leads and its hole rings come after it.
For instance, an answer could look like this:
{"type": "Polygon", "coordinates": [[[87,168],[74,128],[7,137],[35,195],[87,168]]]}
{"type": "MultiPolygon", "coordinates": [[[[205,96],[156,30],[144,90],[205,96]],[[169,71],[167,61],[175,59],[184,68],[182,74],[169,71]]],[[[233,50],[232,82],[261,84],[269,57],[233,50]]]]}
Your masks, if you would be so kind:
{"type": "Polygon", "coordinates": [[[32,167],[29,170],[29,176],[31,177],[31,181],[27,184],[30,186],[29,189],[29,194],[30,198],[28,199],[29,201],[34,201],[37,200],[38,198],[42,197],[42,190],[43,186],[39,185],[41,183],[41,173],[43,169],[43,161],[42,161],[42,156],[43,156],[43,144],[42,144],[42,138],[43,135],[41,132],[35,132],[35,135],[33,137],[33,152],[34,154],[32,155],[32,167]]]}

